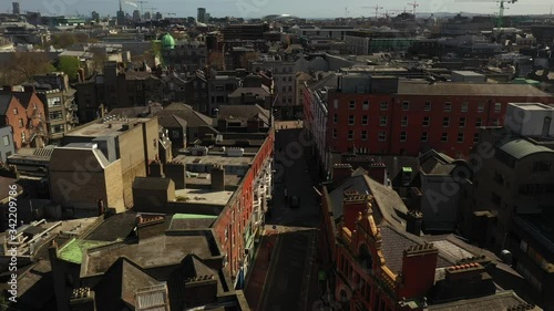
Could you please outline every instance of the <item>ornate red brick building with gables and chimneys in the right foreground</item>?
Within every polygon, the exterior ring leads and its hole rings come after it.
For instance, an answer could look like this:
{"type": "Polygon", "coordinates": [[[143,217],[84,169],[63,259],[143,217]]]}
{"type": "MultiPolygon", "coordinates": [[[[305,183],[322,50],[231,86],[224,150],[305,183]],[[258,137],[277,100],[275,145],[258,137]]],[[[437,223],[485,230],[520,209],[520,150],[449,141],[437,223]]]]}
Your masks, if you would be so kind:
{"type": "Polygon", "coordinates": [[[512,291],[497,291],[489,274],[495,269],[494,259],[483,256],[483,250],[452,235],[420,237],[421,215],[407,211],[392,189],[361,169],[335,168],[334,179],[340,180],[334,183],[338,186],[332,191],[322,188],[321,204],[329,303],[340,304],[335,310],[526,305],[512,291]]]}

